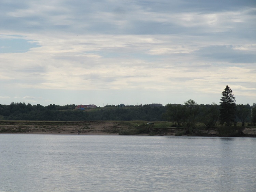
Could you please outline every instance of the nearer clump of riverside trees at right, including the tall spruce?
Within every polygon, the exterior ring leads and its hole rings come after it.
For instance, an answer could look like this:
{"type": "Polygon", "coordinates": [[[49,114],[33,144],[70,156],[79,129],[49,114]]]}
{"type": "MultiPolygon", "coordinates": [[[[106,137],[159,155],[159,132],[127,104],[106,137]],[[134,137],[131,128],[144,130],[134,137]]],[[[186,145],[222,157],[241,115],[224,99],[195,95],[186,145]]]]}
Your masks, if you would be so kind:
{"type": "Polygon", "coordinates": [[[195,127],[198,123],[203,123],[206,127],[215,126],[217,122],[221,125],[230,127],[241,122],[256,124],[256,105],[251,107],[249,104],[236,105],[233,91],[227,85],[222,92],[220,104],[198,105],[194,100],[188,100],[181,104],[168,104],[166,119],[172,121],[179,127],[195,127]]]}

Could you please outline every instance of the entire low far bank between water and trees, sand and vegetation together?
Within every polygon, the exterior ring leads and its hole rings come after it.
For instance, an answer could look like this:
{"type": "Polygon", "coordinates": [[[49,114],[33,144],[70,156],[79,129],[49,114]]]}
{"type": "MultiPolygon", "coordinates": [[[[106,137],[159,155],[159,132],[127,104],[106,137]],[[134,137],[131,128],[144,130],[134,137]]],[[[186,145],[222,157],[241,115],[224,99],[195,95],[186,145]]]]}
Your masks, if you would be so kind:
{"type": "Polygon", "coordinates": [[[0,134],[256,137],[256,127],[171,127],[144,121],[0,121],[0,134]]]}

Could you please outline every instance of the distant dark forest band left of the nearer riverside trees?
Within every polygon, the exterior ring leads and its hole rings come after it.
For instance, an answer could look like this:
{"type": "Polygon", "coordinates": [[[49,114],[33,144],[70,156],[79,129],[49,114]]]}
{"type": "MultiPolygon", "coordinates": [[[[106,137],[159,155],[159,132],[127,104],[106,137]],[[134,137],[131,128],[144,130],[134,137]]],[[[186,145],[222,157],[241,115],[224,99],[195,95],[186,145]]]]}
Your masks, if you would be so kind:
{"type": "Polygon", "coordinates": [[[98,121],[98,120],[144,120],[162,121],[165,107],[143,105],[139,107],[106,106],[96,109],[75,110],[75,105],[42,106],[25,103],[0,104],[0,120],[40,120],[40,121],[98,121]]]}

